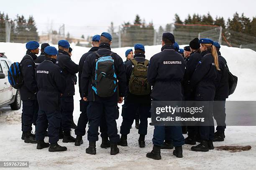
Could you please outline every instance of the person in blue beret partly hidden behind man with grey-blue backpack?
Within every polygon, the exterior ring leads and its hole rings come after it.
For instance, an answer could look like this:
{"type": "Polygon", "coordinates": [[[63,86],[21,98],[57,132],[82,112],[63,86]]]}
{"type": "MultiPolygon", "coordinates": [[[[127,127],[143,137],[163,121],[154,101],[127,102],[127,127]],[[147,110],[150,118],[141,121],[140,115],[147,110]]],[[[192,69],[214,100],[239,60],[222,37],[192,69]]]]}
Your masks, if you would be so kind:
{"type": "MultiPolygon", "coordinates": [[[[78,84],[79,84],[79,93],[80,93],[80,111],[81,114],[78,119],[77,123],[77,129],[75,129],[75,134],[77,135],[77,138],[75,140],[75,146],[80,146],[83,143],[82,137],[85,135],[85,128],[86,124],[88,122],[87,117],[87,106],[89,102],[86,102],[83,100],[82,97],[82,88],[81,88],[81,76],[82,76],[82,70],[84,66],[84,60],[88,55],[90,55],[92,52],[95,52],[99,49],[100,45],[100,35],[95,35],[92,37],[92,48],[82,55],[80,61],[79,61],[79,72],[78,72],[78,84]]],[[[102,117],[100,121],[100,137],[102,138],[102,143],[100,145],[101,148],[109,148],[110,147],[110,141],[108,140],[108,127],[106,124],[105,117],[102,117]]]]}

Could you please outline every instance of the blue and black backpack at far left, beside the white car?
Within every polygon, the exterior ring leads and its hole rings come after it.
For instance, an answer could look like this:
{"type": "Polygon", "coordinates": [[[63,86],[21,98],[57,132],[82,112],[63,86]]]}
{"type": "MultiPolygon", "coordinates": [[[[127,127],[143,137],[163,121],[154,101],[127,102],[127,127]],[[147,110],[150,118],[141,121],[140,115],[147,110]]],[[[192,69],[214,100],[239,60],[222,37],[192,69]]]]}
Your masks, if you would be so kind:
{"type": "Polygon", "coordinates": [[[21,74],[20,63],[14,62],[8,71],[8,81],[15,89],[19,89],[23,85],[23,77],[21,74]]]}

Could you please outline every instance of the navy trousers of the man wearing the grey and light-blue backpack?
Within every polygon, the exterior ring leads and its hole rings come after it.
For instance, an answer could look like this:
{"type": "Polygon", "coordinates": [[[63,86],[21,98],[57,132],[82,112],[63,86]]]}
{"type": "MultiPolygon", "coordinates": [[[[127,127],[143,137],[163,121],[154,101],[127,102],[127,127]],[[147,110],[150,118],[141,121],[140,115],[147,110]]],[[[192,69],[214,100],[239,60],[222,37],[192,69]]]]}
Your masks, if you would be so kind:
{"type": "Polygon", "coordinates": [[[105,117],[109,140],[111,143],[118,143],[120,140],[120,136],[118,135],[117,125],[115,121],[116,113],[116,101],[100,100],[95,102],[89,102],[89,105],[87,107],[87,116],[89,119],[90,127],[88,130],[87,139],[89,141],[99,140],[98,128],[100,122],[102,122],[103,118],[105,117]]]}

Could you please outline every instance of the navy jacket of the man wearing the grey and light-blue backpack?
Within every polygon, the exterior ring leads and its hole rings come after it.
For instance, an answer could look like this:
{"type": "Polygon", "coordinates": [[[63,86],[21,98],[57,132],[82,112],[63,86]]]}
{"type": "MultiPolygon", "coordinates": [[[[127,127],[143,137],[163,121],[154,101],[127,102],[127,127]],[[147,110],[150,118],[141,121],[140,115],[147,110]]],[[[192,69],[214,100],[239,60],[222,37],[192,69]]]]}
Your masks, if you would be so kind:
{"type": "MultiPolygon", "coordinates": [[[[107,43],[101,43],[99,46],[99,50],[97,50],[99,55],[109,55],[111,53],[110,45],[107,43]]],[[[125,68],[123,65],[122,58],[113,53],[111,57],[114,60],[114,67],[115,67],[115,74],[118,80],[118,87],[119,87],[119,97],[125,96],[126,91],[126,76],[125,76],[125,68]]],[[[90,54],[86,57],[84,61],[83,71],[82,71],[82,78],[81,78],[81,87],[83,97],[88,97],[88,101],[95,101],[98,100],[111,100],[117,101],[118,96],[117,92],[111,97],[99,97],[95,94],[94,90],[92,90],[92,77],[95,77],[95,65],[98,56],[95,53],[90,54]]]]}

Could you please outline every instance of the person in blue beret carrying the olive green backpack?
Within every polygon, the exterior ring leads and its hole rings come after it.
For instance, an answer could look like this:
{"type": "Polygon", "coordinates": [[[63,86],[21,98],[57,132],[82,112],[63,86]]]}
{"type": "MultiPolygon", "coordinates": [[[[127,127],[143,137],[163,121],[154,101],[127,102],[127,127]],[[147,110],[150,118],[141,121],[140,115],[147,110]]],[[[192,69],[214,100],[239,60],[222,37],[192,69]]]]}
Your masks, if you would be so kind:
{"type": "MultiPolygon", "coordinates": [[[[134,45],[134,59],[139,63],[148,62],[145,59],[145,48],[142,44],[134,45]]],[[[146,65],[146,64],[145,64],[146,65]]],[[[147,66],[147,65],[146,65],[147,66]]],[[[127,78],[127,90],[125,95],[125,103],[122,108],[123,122],[120,127],[120,143],[118,145],[127,146],[127,135],[130,133],[131,125],[136,117],[136,113],[139,115],[140,124],[138,127],[138,134],[140,137],[138,139],[138,145],[140,148],[145,147],[145,135],[147,135],[148,128],[148,117],[150,117],[151,108],[151,97],[150,93],[148,95],[134,95],[129,90],[129,81],[134,68],[134,64],[131,60],[125,63],[125,72],[127,78]]]]}

